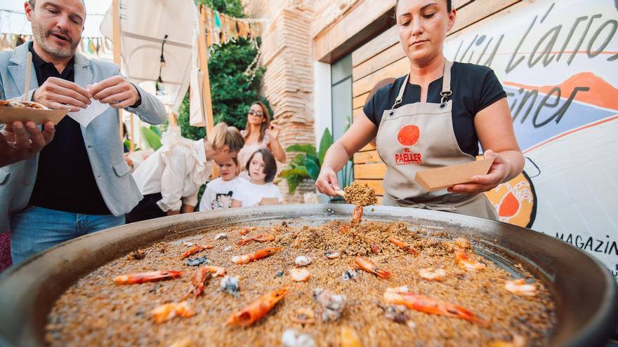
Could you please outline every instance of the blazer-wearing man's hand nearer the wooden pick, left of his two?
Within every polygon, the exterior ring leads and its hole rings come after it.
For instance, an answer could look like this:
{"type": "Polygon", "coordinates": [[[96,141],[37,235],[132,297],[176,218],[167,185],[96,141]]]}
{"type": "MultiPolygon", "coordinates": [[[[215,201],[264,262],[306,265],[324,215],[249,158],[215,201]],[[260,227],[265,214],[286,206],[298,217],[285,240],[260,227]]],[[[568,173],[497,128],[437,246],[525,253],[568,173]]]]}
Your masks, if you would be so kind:
{"type": "Polygon", "coordinates": [[[77,112],[91,104],[92,94],[77,84],[50,77],[32,95],[32,101],[49,109],[70,109],[77,112]]]}

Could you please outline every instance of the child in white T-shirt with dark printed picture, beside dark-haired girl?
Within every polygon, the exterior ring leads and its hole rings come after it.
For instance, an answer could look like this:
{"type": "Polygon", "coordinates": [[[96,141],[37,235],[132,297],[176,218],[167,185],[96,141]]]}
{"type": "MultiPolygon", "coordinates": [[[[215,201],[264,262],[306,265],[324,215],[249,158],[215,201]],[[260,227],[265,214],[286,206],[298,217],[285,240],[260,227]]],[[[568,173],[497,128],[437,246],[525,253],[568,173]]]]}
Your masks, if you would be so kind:
{"type": "Polygon", "coordinates": [[[206,190],[199,202],[200,211],[222,210],[232,207],[232,198],[239,196],[240,186],[245,179],[239,178],[240,167],[238,159],[230,158],[223,163],[217,163],[221,177],[206,184],[206,190]]]}

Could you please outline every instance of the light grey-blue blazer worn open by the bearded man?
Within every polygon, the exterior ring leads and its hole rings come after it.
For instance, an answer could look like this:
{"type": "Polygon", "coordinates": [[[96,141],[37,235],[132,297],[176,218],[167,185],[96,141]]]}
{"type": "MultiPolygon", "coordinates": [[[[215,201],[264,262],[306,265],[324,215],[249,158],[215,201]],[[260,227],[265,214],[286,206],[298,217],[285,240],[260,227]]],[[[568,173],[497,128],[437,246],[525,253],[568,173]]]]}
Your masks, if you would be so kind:
{"type": "MultiPolygon", "coordinates": [[[[29,42],[13,51],[0,52],[0,99],[23,97],[26,93],[23,88],[28,46],[29,42]]],[[[79,53],[75,54],[74,62],[75,83],[83,88],[120,73],[116,64],[88,60],[79,53]]],[[[31,71],[29,79],[32,90],[27,91],[28,100],[32,99],[34,90],[39,87],[33,66],[31,71]]],[[[142,121],[150,124],[163,123],[166,111],[162,102],[142,88],[137,88],[142,102],[136,108],[126,108],[126,111],[137,114],[142,121]]],[[[124,161],[118,110],[108,108],[88,124],[88,128],[82,126],[81,133],[84,135],[84,145],[88,151],[96,183],[107,208],[116,216],[131,211],[142,199],[142,195],[129,172],[129,165],[124,161]]],[[[0,168],[0,232],[11,229],[11,215],[23,210],[30,200],[34,181],[37,179],[38,165],[39,154],[0,168]]]]}

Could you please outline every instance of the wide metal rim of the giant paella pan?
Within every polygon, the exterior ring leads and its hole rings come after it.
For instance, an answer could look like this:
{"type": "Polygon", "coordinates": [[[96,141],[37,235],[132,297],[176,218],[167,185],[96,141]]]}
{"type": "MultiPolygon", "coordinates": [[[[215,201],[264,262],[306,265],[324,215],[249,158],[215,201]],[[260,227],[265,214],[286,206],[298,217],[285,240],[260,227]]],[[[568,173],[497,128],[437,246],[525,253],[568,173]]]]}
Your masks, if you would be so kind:
{"type": "MultiPolygon", "coordinates": [[[[44,346],[46,316],[79,278],[136,247],[203,229],[290,219],[348,218],[351,205],[275,205],[151,219],[52,247],[0,275],[0,346],[44,346]],[[9,314],[6,314],[9,313],[9,314]]],[[[376,206],[364,218],[404,221],[449,236],[467,236],[519,261],[555,297],[558,325],[551,346],[603,346],[618,322],[617,284],[599,261],[577,247],[520,226],[449,212],[376,206]]]]}

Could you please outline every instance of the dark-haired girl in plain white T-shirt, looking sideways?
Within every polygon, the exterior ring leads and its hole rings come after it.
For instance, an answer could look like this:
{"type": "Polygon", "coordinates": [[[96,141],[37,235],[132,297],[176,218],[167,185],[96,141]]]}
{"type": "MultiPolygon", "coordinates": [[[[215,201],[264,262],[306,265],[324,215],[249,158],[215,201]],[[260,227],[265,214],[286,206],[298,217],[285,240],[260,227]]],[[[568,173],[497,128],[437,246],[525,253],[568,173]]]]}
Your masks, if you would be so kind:
{"type": "Polygon", "coordinates": [[[283,203],[279,187],[272,183],[277,173],[277,163],[268,149],[258,149],[251,154],[246,163],[246,170],[251,179],[243,182],[239,189],[239,196],[232,199],[232,207],[283,203]]]}

